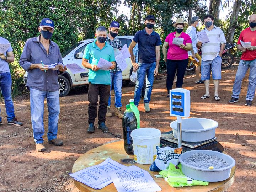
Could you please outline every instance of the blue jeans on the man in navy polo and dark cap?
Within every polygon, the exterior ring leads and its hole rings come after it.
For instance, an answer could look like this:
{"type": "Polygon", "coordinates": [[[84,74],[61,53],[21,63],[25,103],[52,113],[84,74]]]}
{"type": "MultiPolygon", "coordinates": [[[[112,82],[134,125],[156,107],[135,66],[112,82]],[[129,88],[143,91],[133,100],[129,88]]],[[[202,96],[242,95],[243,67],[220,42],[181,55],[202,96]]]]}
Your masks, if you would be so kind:
{"type": "Polygon", "coordinates": [[[139,105],[140,95],[143,87],[143,82],[145,79],[145,74],[147,74],[146,80],[146,92],[144,95],[144,103],[150,102],[151,92],[154,82],[154,70],[156,68],[156,62],[153,63],[138,63],[139,68],[137,70],[137,81],[134,91],[134,105],[139,105]]]}

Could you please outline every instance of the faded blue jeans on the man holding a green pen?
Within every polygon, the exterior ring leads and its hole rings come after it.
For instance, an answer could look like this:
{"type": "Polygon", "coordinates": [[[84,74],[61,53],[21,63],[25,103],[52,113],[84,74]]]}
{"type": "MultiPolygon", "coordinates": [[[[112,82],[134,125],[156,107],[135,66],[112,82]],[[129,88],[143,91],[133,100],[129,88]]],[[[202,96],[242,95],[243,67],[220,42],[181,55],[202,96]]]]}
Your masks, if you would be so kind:
{"type": "Polygon", "coordinates": [[[44,98],[47,100],[48,116],[48,140],[56,139],[59,120],[59,91],[39,91],[30,88],[30,108],[33,136],[36,144],[43,143],[44,135],[44,98]]]}

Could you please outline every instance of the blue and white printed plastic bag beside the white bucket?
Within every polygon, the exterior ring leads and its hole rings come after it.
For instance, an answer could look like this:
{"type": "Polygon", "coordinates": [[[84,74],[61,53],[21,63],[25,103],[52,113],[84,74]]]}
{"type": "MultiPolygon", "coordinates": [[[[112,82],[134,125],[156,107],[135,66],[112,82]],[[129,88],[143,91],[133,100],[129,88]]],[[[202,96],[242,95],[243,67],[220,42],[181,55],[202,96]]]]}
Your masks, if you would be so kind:
{"type": "Polygon", "coordinates": [[[161,171],[168,168],[169,164],[178,165],[182,147],[174,149],[171,147],[160,148],[156,146],[156,160],[149,167],[150,171],[161,171]]]}

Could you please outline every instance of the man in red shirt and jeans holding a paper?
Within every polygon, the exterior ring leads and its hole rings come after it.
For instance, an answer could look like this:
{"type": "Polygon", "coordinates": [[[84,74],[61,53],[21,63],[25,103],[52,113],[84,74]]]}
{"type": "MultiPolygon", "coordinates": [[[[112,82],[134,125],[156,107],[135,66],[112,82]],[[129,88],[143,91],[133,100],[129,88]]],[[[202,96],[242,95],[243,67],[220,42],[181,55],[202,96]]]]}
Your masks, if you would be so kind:
{"type": "Polygon", "coordinates": [[[231,100],[229,100],[229,103],[238,102],[242,80],[247,70],[250,68],[249,85],[245,102],[246,106],[251,106],[256,88],[256,14],[251,15],[249,20],[250,27],[243,30],[238,39],[237,48],[242,52],[242,56],[236,72],[233,95],[231,100]],[[246,44],[244,44],[246,42],[251,42],[251,46],[247,47],[246,44]]]}

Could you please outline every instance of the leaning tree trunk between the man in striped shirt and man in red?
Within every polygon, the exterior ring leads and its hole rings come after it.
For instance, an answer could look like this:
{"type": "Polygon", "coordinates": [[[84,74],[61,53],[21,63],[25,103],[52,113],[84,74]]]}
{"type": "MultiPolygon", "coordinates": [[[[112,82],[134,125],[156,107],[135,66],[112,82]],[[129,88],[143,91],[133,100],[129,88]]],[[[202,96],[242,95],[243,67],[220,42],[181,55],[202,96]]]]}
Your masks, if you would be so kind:
{"type": "Polygon", "coordinates": [[[230,16],[230,25],[226,34],[226,41],[228,43],[233,43],[235,30],[236,30],[236,27],[238,27],[238,15],[241,10],[241,4],[242,4],[242,0],[235,0],[233,5],[233,11],[230,16]]]}

